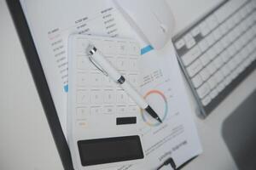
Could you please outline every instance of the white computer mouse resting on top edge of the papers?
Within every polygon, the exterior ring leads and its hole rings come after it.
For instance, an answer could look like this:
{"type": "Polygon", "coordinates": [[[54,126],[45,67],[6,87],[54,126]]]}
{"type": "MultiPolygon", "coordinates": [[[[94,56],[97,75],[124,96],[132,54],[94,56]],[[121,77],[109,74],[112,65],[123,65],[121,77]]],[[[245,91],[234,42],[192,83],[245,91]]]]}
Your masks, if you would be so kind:
{"type": "Polygon", "coordinates": [[[174,18],[166,0],[114,0],[125,19],[155,49],[172,38],[174,18]]]}

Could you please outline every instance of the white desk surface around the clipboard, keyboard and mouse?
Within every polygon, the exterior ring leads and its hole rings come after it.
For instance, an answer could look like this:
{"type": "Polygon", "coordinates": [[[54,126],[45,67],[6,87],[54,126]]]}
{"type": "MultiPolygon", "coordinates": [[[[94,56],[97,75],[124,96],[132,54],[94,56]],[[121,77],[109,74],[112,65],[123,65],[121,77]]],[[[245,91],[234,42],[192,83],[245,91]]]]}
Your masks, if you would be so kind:
{"type": "MultiPolygon", "coordinates": [[[[220,0],[169,0],[176,18],[175,32],[218,2],[220,0]]],[[[0,0],[0,23],[0,169],[63,169],[5,0],[0,0]]],[[[230,112],[255,88],[256,71],[206,120],[194,113],[204,151],[184,170],[237,169],[224,144],[221,127],[230,112]]],[[[195,99],[188,86],[187,91],[195,111],[195,99]]]]}

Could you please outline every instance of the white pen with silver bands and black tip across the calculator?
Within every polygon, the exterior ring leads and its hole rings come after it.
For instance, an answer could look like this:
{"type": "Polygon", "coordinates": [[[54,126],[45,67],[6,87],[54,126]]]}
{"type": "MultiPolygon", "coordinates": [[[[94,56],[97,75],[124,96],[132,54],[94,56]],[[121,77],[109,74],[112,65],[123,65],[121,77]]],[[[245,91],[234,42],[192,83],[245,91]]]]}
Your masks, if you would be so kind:
{"type": "Polygon", "coordinates": [[[111,65],[108,60],[102,55],[101,52],[97,50],[94,45],[89,45],[86,51],[89,54],[89,59],[99,70],[101,70],[106,76],[109,76],[114,82],[119,83],[120,87],[125,90],[125,93],[128,94],[131,99],[133,99],[137,105],[143,110],[147,111],[148,114],[159,122],[160,117],[156,112],[148,105],[145,99],[138,94],[137,90],[131,86],[129,82],[125,80],[119,71],[117,71],[113,65],[111,65]]]}

